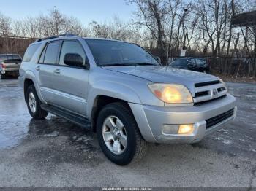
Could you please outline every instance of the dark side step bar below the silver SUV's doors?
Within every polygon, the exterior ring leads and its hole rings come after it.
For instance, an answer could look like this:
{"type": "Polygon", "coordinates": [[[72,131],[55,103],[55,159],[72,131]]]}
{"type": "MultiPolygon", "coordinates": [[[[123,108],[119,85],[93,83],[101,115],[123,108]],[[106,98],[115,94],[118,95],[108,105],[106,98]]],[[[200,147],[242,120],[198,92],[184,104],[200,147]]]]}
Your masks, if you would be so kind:
{"type": "Polygon", "coordinates": [[[73,113],[67,112],[66,110],[61,109],[59,107],[50,106],[50,105],[47,105],[47,104],[42,104],[41,108],[44,109],[47,112],[50,112],[52,114],[56,114],[59,117],[63,117],[64,119],[69,120],[70,122],[73,122],[76,125],[81,126],[82,128],[91,129],[90,125],[88,125],[91,122],[86,117],[82,117],[78,114],[73,114],[73,113]]]}

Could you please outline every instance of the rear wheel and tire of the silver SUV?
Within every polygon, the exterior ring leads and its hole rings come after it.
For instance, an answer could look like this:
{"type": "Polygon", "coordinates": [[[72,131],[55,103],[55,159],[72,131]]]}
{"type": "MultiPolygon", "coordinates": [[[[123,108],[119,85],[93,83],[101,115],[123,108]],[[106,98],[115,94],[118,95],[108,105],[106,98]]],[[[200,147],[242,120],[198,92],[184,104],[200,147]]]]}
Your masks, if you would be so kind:
{"type": "Polygon", "coordinates": [[[29,114],[36,120],[45,119],[48,112],[41,108],[41,101],[37,96],[37,91],[34,85],[30,85],[26,90],[26,105],[29,109],[29,114]]]}

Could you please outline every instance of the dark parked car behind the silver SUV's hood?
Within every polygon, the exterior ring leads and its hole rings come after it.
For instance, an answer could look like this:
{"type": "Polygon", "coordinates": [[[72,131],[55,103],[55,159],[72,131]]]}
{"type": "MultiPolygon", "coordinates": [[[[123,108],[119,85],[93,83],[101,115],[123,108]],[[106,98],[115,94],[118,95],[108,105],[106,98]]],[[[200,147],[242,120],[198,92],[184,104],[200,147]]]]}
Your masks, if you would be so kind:
{"type": "Polygon", "coordinates": [[[209,66],[205,58],[178,58],[170,63],[170,66],[177,69],[187,69],[208,73],[209,66]]]}

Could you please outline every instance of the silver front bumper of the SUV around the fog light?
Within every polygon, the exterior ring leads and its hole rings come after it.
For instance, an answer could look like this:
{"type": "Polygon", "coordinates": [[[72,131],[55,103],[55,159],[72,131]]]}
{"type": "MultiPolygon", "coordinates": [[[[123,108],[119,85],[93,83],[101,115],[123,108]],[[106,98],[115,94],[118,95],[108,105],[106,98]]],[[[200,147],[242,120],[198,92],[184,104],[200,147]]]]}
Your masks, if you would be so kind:
{"type": "Polygon", "coordinates": [[[236,98],[227,94],[225,98],[211,101],[200,106],[160,107],[129,104],[146,141],[157,143],[195,143],[210,133],[232,122],[236,116],[236,98]],[[216,125],[206,128],[206,120],[217,117],[230,109],[233,115],[216,125]],[[163,125],[193,124],[194,130],[189,135],[165,134],[163,125]]]}

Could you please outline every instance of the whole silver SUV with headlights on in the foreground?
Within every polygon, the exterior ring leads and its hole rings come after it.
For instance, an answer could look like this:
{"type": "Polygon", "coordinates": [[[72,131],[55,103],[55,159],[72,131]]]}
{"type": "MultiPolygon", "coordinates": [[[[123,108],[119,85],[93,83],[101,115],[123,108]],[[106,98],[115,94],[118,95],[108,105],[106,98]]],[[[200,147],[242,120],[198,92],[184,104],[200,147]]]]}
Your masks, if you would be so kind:
{"type": "Polygon", "coordinates": [[[163,67],[142,47],[113,39],[38,39],[19,81],[31,117],[50,112],[91,128],[118,165],[143,157],[146,142],[195,143],[236,115],[221,79],[163,67]]]}

